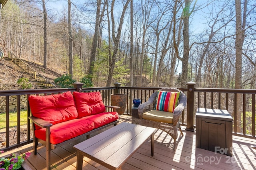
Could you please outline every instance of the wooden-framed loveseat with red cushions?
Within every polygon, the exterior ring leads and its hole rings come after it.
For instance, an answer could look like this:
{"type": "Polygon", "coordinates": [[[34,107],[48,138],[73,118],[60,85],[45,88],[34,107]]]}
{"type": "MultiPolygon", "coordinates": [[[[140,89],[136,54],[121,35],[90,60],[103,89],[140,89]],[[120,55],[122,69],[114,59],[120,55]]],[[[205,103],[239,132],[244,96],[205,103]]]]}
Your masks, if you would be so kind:
{"type": "Polygon", "coordinates": [[[38,142],[46,146],[46,167],[50,169],[50,150],[118,123],[117,106],[104,106],[100,92],[64,92],[28,98],[34,135],[34,154],[38,142]],[[113,109],[106,112],[106,107],[113,109]]]}

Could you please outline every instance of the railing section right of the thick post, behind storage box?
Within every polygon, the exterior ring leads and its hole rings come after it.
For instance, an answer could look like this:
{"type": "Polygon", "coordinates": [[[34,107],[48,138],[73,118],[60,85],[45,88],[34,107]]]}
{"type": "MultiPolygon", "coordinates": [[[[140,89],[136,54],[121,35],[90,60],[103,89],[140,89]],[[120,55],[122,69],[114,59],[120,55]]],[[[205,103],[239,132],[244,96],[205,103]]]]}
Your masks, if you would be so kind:
{"type": "Polygon", "coordinates": [[[194,88],[195,107],[226,109],[234,118],[233,135],[255,138],[255,89],[194,88]]]}

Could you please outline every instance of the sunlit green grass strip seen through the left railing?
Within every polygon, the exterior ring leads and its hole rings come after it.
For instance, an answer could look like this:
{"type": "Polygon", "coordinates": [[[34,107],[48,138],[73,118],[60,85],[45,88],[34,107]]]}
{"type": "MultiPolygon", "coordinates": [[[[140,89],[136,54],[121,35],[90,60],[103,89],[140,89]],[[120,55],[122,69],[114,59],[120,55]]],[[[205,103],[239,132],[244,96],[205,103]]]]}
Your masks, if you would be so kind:
{"type": "MultiPolygon", "coordinates": [[[[9,114],[10,119],[10,127],[17,126],[17,112],[9,114]]],[[[27,124],[27,111],[20,111],[20,125],[27,124]]],[[[5,128],[6,125],[6,113],[0,114],[0,129],[5,128]]]]}

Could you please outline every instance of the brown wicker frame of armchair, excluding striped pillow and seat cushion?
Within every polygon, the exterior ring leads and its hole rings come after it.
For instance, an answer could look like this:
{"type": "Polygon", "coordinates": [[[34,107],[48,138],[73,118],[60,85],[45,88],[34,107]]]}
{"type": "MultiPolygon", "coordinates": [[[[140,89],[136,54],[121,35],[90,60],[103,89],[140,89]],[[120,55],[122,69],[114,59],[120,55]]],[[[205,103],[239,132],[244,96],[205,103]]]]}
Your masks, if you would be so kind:
{"type": "MultiPolygon", "coordinates": [[[[152,121],[152,120],[148,120],[148,119],[143,119],[143,113],[145,112],[154,112],[153,114],[158,114],[160,112],[164,112],[164,111],[153,111],[154,107],[156,105],[156,97],[157,97],[157,92],[154,92],[149,100],[143,104],[140,104],[140,106],[138,107],[138,116],[140,117],[140,125],[143,126],[148,126],[148,127],[154,127],[157,129],[161,129],[162,131],[165,131],[166,133],[168,133],[173,139],[174,139],[174,151],[176,150],[176,139],[178,137],[178,128],[180,129],[180,133],[183,136],[183,133],[181,131],[180,128],[180,115],[182,114],[182,111],[184,109],[184,107],[186,106],[187,103],[187,98],[185,96],[185,94],[176,89],[176,88],[162,88],[160,89],[161,91],[165,91],[165,92],[181,92],[180,93],[180,100],[178,102],[178,106],[175,107],[174,111],[173,111],[173,120],[172,120],[172,124],[170,123],[164,123],[164,122],[160,122],[160,121],[152,121]]],[[[162,117],[162,113],[160,113],[159,115],[156,115],[156,117],[162,117]]],[[[172,119],[172,117],[163,117],[163,119],[172,119]]]]}

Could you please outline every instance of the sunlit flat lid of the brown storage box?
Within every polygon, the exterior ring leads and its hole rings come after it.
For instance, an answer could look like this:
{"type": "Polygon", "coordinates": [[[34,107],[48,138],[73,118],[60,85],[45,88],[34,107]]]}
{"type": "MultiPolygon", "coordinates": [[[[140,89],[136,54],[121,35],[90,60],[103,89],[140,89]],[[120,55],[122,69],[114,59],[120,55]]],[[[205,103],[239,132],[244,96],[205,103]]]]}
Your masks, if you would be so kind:
{"type": "Polygon", "coordinates": [[[220,109],[198,108],[196,111],[196,117],[223,121],[233,121],[233,117],[228,113],[227,110],[220,109]]]}

